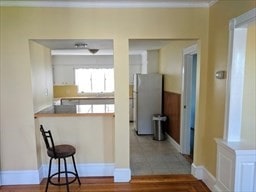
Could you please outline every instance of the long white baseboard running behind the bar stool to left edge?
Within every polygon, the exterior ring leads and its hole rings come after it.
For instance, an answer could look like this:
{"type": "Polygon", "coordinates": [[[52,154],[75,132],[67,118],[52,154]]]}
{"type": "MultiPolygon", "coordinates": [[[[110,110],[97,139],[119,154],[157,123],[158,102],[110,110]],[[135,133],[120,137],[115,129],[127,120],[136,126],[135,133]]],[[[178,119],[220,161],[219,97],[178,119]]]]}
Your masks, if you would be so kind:
{"type": "MultiPolygon", "coordinates": [[[[73,170],[73,164],[68,164],[68,169],[73,170]]],[[[62,168],[63,169],[63,168],[62,168]]],[[[57,165],[52,165],[52,173],[57,171],[57,165]]],[[[77,164],[80,177],[113,176],[113,163],[77,164]]],[[[42,165],[39,170],[1,171],[1,185],[39,184],[48,176],[48,165],[42,165]]]]}

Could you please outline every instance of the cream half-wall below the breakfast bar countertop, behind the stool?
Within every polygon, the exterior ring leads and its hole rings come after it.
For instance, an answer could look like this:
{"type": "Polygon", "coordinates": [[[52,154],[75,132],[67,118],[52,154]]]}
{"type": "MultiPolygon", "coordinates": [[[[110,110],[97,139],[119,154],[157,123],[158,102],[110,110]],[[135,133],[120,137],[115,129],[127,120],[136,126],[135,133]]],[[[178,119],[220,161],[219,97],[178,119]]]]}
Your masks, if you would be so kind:
{"type": "MultiPolygon", "coordinates": [[[[114,163],[113,115],[80,117],[39,117],[37,124],[51,130],[56,145],[68,143],[76,148],[77,163],[114,163]]],[[[37,129],[38,137],[42,137],[37,129]]],[[[48,164],[46,147],[40,138],[38,152],[48,164]]]]}

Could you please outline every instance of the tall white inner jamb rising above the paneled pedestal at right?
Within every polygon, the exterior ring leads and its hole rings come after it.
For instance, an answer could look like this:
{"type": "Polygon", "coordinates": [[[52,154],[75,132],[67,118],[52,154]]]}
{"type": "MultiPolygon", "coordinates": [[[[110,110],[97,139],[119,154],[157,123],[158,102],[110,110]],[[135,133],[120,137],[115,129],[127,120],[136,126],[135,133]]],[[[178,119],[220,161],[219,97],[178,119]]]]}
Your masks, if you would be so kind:
{"type": "Polygon", "coordinates": [[[240,141],[247,29],[236,29],[231,36],[234,37],[234,41],[232,42],[232,66],[229,68],[230,89],[226,133],[229,141],[240,141]]]}

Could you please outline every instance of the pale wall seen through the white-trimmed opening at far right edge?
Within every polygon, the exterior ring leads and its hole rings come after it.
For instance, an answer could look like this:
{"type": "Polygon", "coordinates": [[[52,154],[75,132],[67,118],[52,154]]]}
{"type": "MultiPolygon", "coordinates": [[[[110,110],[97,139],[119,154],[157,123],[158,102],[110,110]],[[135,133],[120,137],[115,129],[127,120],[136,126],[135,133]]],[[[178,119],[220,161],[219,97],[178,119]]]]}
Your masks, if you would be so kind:
{"type": "Polygon", "coordinates": [[[256,146],[256,23],[248,27],[241,140],[256,146]]]}

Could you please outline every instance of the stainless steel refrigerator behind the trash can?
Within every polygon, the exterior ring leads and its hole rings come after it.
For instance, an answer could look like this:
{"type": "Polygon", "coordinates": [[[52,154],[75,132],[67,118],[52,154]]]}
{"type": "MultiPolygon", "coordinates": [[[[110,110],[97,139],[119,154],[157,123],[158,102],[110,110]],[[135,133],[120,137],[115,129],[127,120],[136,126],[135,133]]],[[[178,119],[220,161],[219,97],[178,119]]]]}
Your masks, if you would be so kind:
{"type": "Polygon", "coordinates": [[[135,74],[133,99],[137,134],[153,134],[153,115],[162,112],[162,75],[135,74]]]}

